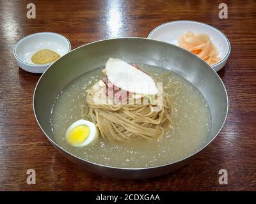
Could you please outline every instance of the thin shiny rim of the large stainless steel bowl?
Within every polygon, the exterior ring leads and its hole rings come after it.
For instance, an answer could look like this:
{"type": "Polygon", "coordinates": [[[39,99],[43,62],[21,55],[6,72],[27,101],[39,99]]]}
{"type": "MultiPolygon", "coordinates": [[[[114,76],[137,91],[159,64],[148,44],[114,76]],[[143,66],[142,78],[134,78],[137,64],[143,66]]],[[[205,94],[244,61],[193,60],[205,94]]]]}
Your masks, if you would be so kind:
{"type": "MultiPolygon", "coordinates": [[[[175,46],[177,48],[180,48],[182,50],[185,50],[185,52],[188,52],[189,54],[192,54],[191,52],[189,52],[188,50],[184,49],[184,48],[181,48],[177,45],[173,45],[171,43],[167,43],[166,41],[161,41],[161,40],[154,40],[154,39],[150,39],[150,38],[141,38],[141,37],[121,37],[121,38],[108,38],[108,39],[104,39],[104,40],[98,40],[98,41],[93,41],[91,43],[86,43],[84,45],[81,45],[73,50],[71,50],[69,53],[73,52],[74,50],[77,50],[81,47],[84,47],[84,46],[87,46],[87,45],[92,45],[94,43],[99,43],[101,41],[108,41],[108,40],[124,40],[124,39],[138,39],[138,40],[152,40],[152,41],[157,41],[159,43],[164,43],[166,45],[172,45],[172,46],[175,46]]],[[[200,59],[198,57],[198,59],[200,59]]],[[[171,163],[167,163],[167,164],[162,164],[162,165],[157,165],[157,166],[149,166],[149,167],[142,167],[142,168],[124,168],[124,167],[117,167],[117,166],[108,166],[108,165],[104,165],[104,164],[99,164],[99,163],[93,163],[92,161],[88,161],[86,159],[83,159],[81,157],[78,157],[74,154],[72,154],[71,152],[68,152],[68,150],[64,149],[63,147],[61,147],[60,145],[58,145],[58,143],[54,142],[44,131],[44,129],[42,128],[42,126],[40,125],[39,121],[38,121],[38,118],[36,117],[36,112],[35,112],[35,94],[36,94],[36,89],[38,87],[38,84],[40,83],[40,80],[42,79],[42,77],[44,77],[45,73],[49,70],[49,68],[52,66],[52,64],[45,70],[45,72],[41,75],[41,77],[39,78],[38,82],[36,83],[36,86],[35,86],[35,90],[34,90],[34,94],[33,94],[33,112],[34,112],[34,115],[35,115],[35,118],[36,118],[36,122],[38,123],[38,126],[40,127],[40,129],[42,130],[42,132],[44,133],[44,135],[47,137],[47,139],[56,147],[58,147],[58,149],[61,149],[63,152],[67,153],[68,156],[71,156],[71,157],[75,157],[76,159],[78,159],[79,161],[83,161],[83,162],[86,162],[86,163],[89,163],[89,164],[92,164],[92,165],[95,165],[95,166],[100,166],[102,168],[111,168],[113,170],[128,170],[128,171],[139,171],[139,170],[152,170],[154,168],[163,168],[164,166],[169,166],[171,164],[175,164],[175,163],[180,163],[181,161],[184,161],[186,159],[189,159],[193,156],[195,156],[196,154],[198,154],[198,152],[201,152],[202,150],[204,150],[215,138],[216,136],[218,136],[218,134],[220,133],[221,129],[223,128],[224,124],[225,124],[225,121],[227,119],[227,115],[228,115],[228,94],[227,94],[227,90],[226,90],[226,87],[225,85],[223,84],[223,81],[221,80],[220,76],[218,75],[218,73],[216,73],[216,71],[214,71],[214,69],[211,68],[211,66],[209,66],[209,64],[207,64],[207,62],[205,62],[203,59],[200,59],[202,62],[205,63],[205,65],[207,65],[213,72],[214,75],[216,75],[216,77],[218,78],[218,80],[220,80],[223,88],[224,88],[224,91],[225,91],[225,96],[227,98],[227,110],[226,110],[226,115],[225,115],[225,118],[223,120],[223,124],[221,125],[219,131],[216,133],[216,135],[211,139],[209,140],[209,142],[207,143],[204,143],[204,146],[200,149],[197,149],[195,152],[193,152],[193,154],[190,154],[186,157],[183,157],[182,159],[179,159],[177,161],[173,161],[171,163]]]]}

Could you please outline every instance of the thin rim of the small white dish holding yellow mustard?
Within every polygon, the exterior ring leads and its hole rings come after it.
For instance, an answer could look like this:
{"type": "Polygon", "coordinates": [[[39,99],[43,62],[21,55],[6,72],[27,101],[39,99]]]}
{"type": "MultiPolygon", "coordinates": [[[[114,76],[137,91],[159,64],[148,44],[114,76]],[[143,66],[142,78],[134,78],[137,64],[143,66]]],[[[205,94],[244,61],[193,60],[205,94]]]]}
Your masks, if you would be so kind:
{"type": "MultiPolygon", "coordinates": [[[[25,36],[24,38],[21,38],[16,44],[15,46],[13,47],[13,55],[15,57],[15,59],[17,59],[19,62],[21,62],[22,64],[26,64],[26,65],[29,65],[29,66],[36,66],[38,68],[40,67],[44,67],[44,66],[50,66],[53,62],[49,62],[47,64],[30,64],[28,62],[24,62],[22,61],[18,55],[17,55],[17,47],[19,46],[19,44],[23,41],[23,40],[26,40],[28,38],[31,38],[31,36],[36,36],[36,35],[39,35],[39,34],[52,34],[52,35],[56,35],[56,36],[60,36],[61,38],[63,38],[64,40],[67,41],[68,43],[68,51],[65,53],[67,54],[68,52],[70,52],[71,50],[71,44],[70,44],[70,41],[68,40],[68,38],[66,38],[65,36],[63,36],[62,34],[59,34],[59,33],[53,33],[53,32],[39,32],[39,33],[33,33],[33,34],[29,34],[28,36],[25,36]]],[[[65,55],[64,54],[64,55],[65,55]]],[[[61,56],[62,57],[62,56],[61,56]]]]}

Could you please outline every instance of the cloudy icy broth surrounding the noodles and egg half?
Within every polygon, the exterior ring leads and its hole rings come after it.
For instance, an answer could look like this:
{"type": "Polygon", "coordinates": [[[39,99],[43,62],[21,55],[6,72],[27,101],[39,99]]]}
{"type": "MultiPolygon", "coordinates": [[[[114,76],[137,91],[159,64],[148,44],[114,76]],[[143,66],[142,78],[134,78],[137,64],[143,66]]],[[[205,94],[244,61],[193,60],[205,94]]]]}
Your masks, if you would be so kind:
{"type": "MultiPolygon", "coordinates": [[[[154,77],[166,73],[166,69],[145,64],[139,66],[148,73],[154,73],[154,77]]],[[[82,119],[81,110],[86,103],[85,91],[102,77],[102,69],[77,77],[56,98],[56,103],[52,106],[51,126],[52,134],[60,147],[93,163],[121,168],[145,168],[178,161],[204,145],[211,128],[211,113],[207,102],[194,85],[174,72],[166,80],[179,81],[182,87],[173,97],[173,129],[162,138],[109,142],[99,137],[96,142],[85,147],[69,145],[65,140],[65,132],[73,122],[82,119]]]]}

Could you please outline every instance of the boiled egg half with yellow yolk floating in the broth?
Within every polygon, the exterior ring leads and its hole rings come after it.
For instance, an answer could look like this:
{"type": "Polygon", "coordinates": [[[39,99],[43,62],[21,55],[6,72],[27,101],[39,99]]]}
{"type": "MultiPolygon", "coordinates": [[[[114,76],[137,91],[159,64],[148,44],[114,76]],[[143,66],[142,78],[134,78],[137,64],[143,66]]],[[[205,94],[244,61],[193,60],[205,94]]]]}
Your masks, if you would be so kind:
{"type": "Polygon", "coordinates": [[[98,129],[93,122],[81,119],[67,129],[66,140],[74,147],[83,147],[97,140],[98,135],[98,129]]]}

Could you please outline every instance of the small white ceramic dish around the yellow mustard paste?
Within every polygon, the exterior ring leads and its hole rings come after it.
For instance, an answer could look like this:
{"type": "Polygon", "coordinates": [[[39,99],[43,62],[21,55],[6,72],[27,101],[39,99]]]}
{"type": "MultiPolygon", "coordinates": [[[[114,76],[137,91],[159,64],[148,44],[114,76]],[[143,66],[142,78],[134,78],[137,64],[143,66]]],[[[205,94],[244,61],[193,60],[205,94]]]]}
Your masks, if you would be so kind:
{"type": "Polygon", "coordinates": [[[53,62],[35,64],[31,61],[32,55],[42,49],[50,49],[63,56],[71,50],[71,45],[68,39],[61,34],[35,33],[22,38],[13,48],[13,54],[20,68],[32,73],[44,73],[53,62]]]}

